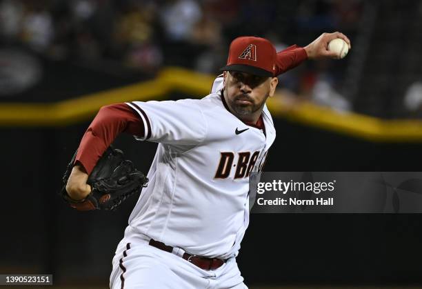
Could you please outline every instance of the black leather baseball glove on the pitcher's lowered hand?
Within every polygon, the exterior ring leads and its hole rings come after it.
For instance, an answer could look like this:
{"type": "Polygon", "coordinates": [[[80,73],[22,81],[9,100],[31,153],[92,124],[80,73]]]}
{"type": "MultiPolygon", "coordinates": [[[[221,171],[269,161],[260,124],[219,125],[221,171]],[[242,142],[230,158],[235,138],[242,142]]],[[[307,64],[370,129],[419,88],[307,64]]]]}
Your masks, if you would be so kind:
{"type": "Polygon", "coordinates": [[[88,177],[87,183],[91,186],[90,195],[81,201],[76,201],[66,192],[66,184],[76,155],[77,152],[74,153],[63,175],[61,197],[77,210],[115,210],[122,201],[139,192],[141,187],[145,187],[148,183],[148,178],[134,168],[132,161],[124,159],[121,150],[110,146],[88,177]]]}

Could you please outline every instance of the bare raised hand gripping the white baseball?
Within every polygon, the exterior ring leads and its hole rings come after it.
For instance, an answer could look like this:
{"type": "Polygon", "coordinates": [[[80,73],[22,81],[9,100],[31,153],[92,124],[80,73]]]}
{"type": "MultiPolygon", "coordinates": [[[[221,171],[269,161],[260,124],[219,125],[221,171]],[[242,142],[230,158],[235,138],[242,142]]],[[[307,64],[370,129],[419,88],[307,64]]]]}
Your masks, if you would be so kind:
{"type": "Polygon", "coordinates": [[[322,59],[322,58],[331,58],[331,59],[339,59],[339,55],[336,52],[332,52],[328,50],[328,43],[332,41],[332,39],[341,38],[346,43],[348,43],[349,49],[352,48],[350,45],[350,40],[345,34],[341,32],[334,32],[334,33],[323,33],[320,37],[312,41],[312,43],[305,46],[304,49],[306,54],[308,54],[309,59],[322,59]]]}

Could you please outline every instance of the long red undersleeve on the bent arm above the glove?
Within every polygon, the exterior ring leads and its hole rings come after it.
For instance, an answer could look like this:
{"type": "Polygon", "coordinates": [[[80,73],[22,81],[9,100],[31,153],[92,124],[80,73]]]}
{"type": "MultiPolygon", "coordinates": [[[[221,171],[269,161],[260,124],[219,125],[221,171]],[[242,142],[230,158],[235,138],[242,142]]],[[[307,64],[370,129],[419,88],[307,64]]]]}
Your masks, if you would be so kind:
{"type": "Polygon", "coordinates": [[[143,137],[143,121],[124,103],[103,106],[83,134],[75,163],[81,163],[90,175],[103,152],[121,132],[143,137]]]}

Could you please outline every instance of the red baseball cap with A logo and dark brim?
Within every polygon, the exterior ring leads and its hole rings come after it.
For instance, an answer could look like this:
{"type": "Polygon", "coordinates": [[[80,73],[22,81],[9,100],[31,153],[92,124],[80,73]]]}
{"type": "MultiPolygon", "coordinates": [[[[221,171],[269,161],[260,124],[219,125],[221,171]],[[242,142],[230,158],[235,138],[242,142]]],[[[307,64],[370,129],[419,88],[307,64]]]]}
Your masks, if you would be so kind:
{"type": "Polygon", "coordinates": [[[260,77],[274,77],[277,52],[261,37],[237,37],[230,43],[227,65],[221,71],[240,71],[260,77]]]}

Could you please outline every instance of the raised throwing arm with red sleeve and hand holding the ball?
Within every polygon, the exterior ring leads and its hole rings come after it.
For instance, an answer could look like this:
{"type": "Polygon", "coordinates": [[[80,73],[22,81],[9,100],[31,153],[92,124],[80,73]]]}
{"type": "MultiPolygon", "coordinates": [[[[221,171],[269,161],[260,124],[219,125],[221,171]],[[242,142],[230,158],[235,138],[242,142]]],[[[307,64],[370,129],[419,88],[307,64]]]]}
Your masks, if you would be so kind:
{"type": "Polygon", "coordinates": [[[341,38],[352,48],[350,40],[341,32],[323,33],[308,46],[301,48],[297,45],[290,46],[285,50],[277,52],[276,75],[282,74],[296,66],[299,66],[306,59],[337,59],[338,54],[328,50],[328,43],[332,39],[341,38]]]}

